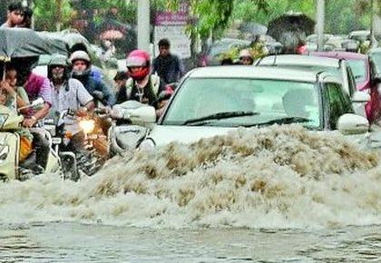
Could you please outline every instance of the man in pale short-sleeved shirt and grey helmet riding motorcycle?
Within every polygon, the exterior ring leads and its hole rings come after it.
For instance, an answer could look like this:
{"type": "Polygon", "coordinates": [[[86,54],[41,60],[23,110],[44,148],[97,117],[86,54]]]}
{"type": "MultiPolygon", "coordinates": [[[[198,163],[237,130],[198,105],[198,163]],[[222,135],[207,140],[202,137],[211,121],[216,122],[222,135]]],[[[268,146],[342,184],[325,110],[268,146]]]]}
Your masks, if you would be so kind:
{"type": "MultiPolygon", "coordinates": [[[[48,78],[53,92],[52,116],[56,117],[68,109],[77,112],[77,115],[93,111],[93,96],[80,81],[70,78],[70,63],[67,57],[58,54],[52,57],[48,64],[48,78]]],[[[66,116],[63,122],[65,131],[73,136],[68,145],[69,151],[82,151],[84,133],[79,127],[77,116],[66,116]]]]}

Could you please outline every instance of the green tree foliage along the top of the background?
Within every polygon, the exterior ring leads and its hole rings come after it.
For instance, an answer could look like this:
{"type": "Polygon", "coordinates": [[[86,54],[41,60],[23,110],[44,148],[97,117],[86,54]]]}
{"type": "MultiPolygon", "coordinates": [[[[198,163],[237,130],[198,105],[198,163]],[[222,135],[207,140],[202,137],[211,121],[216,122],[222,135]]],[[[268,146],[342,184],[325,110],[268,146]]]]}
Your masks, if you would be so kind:
{"type": "MultiPolygon", "coordinates": [[[[57,0],[34,0],[34,17],[37,29],[54,30],[57,21],[57,0]]],[[[117,7],[122,23],[135,24],[138,0],[61,0],[64,26],[78,16],[75,9],[97,10],[93,17],[95,24],[104,15],[117,7]]],[[[152,16],[156,10],[176,10],[183,0],[151,0],[152,16]]],[[[301,12],[311,18],[316,15],[316,0],[186,0],[190,5],[192,23],[190,35],[206,38],[223,33],[233,20],[269,24],[269,21],[289,11],[301,12]]],[[[381,13],[381,0],[376,13],[381,13]]],[[[376,5],[377,6],[377,5],[376,5]]],[[[345,34],[351,30],[368,28],[370,24],[369,0],[326,0],[327,33],[345,34]]]]}

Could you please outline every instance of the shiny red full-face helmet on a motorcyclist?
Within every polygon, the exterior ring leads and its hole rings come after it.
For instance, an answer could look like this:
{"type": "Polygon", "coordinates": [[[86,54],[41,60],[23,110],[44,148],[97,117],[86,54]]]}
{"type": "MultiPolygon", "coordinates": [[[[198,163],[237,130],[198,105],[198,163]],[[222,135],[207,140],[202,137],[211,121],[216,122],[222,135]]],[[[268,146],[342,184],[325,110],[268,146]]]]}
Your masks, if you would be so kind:
{"type": "Polygon", "coordinates": [[[126,64],[132,79],[139,81],[150,73],[151,56],[143,50],[136,49],[127,56],[126,64]],[[132,72],[132,67],[142,67],[142,69],[132,72]]]}

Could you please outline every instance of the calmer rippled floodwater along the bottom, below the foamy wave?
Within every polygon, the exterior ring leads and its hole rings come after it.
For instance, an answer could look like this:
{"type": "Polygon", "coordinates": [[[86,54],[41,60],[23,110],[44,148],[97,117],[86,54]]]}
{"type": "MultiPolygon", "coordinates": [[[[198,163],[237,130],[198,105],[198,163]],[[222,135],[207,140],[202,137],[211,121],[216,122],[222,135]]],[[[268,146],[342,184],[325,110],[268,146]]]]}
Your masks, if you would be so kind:
{"type": "Polygon", "coordinates": [[[140,229],[83,224],[0,227],[0,262],[380,262],[381,226],[140,229]]]}

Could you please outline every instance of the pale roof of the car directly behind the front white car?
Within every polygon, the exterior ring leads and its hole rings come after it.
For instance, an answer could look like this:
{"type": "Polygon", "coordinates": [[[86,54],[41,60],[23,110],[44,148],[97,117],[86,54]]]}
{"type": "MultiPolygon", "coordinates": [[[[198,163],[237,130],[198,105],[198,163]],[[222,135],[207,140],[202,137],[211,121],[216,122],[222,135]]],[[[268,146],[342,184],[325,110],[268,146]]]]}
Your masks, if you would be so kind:
{"type": "Polygon", "coordinates": [[[324,67],[339,67],[339,61],[334,58],[327,57],[312,57],[301,54],[281,54],[281,55],[269,55],[259,60],[257,65],[269,65],[273,64],[288,64],[288,65],[300,65],[300,66],[324,66],[324,67]]]}

